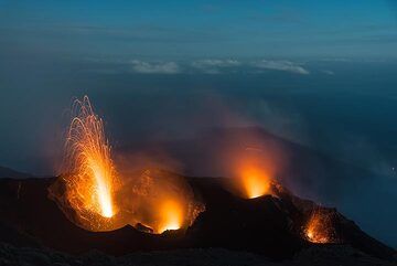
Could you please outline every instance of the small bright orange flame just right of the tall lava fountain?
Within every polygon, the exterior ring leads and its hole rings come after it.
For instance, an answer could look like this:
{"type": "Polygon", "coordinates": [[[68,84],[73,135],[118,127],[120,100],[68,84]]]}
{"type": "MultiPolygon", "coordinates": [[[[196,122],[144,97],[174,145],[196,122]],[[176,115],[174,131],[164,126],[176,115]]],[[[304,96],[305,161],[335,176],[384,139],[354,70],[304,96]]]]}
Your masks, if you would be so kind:
{"type": "Polygon", "coordinates": [[[168,200],[161,206],[159,233],[168,230],[179,230],[183,223],[183,206],[176,201],[168,200]]]}

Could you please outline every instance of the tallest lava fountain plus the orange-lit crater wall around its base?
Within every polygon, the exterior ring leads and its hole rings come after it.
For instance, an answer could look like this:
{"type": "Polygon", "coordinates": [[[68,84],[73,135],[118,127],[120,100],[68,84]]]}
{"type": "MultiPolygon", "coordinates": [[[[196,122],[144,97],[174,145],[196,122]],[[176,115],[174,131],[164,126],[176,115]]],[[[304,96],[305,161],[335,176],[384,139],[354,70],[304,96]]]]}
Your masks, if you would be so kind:
{"type": "Polygon", "coordinates": [[[87,96],[74,102],[72,115],[62,168],[64,174],[50,188],[50,196],[77,225],[90,231],[114,230],[118,179],[104,123],[94,113],[87,96]]]}

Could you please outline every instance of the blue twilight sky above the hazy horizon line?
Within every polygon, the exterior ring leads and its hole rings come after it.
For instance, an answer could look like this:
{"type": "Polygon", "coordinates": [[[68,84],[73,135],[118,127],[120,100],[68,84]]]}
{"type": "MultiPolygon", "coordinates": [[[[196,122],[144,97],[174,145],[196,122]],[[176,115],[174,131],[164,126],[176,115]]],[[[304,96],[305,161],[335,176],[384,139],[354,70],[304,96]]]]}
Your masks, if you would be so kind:
{"type": "Polygon", "coordinates": [[[395,57],[393,0],[8,1],[1,54],[395,57]]]}

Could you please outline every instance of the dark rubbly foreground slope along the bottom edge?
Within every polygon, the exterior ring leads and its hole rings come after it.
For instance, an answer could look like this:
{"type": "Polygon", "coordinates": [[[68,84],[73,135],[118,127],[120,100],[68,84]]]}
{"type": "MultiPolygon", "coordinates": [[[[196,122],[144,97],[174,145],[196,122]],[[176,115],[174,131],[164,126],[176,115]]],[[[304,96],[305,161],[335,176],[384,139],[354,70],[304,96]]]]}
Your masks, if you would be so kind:
{"type": "Polygon", "coordinates": [[[137,252],[114,257],[92,251],[83,255],[67,255],[47,248],[14,247],[0,243],[0,265],[30,266],[393,266],[390,262],[371,257],[350,246],[310,247],[292,259],[270,262],[259,254],[232,252],[223,248],[185,248],[168,252],[137,252]]]}

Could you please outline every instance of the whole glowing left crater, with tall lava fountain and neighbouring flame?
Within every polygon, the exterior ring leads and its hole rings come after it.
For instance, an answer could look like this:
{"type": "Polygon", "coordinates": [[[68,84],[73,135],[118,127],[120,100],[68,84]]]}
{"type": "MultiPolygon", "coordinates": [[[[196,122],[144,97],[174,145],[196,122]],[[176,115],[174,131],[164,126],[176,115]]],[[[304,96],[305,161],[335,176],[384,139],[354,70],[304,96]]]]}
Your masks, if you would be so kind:
{"type": "Polygon", "coordinates": [[[49,196],[73,223],[94,232],[130,224],[161,234],[186,228],[204,211],[183,177],[160,170],[127,173],[119,164],[116,171],[104,123],[87,96],[75,100],[72,114],[63,174],[49,188],[49,196]]]}

